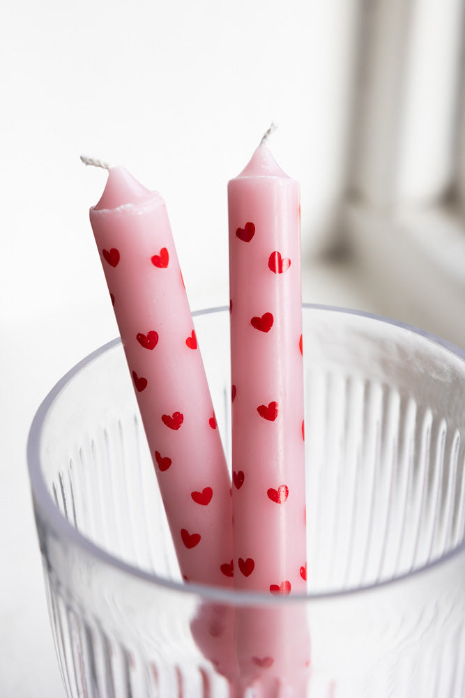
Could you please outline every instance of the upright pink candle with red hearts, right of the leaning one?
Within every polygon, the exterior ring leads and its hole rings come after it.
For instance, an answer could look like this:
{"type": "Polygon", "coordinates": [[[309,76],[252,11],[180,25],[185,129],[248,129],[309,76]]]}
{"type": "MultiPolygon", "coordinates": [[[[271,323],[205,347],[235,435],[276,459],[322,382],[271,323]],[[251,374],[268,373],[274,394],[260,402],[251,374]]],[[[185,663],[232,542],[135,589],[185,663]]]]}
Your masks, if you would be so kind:
{"type": "MultiPolygon", "coordinates": [[[[236,588],[307,591],[300,192],[264,140],[228,184],[236,588]]],[[[299,607],[239,610],[237,695],[305,695],[299,607]]]]}

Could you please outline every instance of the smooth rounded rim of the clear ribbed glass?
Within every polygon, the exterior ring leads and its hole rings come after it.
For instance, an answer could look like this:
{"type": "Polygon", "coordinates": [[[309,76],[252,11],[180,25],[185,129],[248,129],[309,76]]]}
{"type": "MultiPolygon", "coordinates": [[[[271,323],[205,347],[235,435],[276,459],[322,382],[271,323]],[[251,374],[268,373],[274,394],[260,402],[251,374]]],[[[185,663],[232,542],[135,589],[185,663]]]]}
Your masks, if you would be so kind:
{"type": "MultiPolygon", "coordinates": [[[[407,332],[412,332],[417,336],[427,339],[427,341],[430,341],[433,344],[445,348],[465,364],[465,350],[455,346],[446,339],[431,334],[430,332],[426,332],[425,330],[419,329],[413,325],[409,325],[408,323],[385,318],[382,315],[376,315],[374,313],[367,313],[365,311],[348,309],[339,306],[327,306],[324,304],[302,303],[302,309],[330,311],[344,315],[357,315],[369,320],[377,320],[378,322],[383,323],[383,325],[392,325],[399,329],[404,329],[407,332]]],[[[228,306],[217,306],[214,308],[193,311],[192,315],[195,318],[202,315],[211,315],[213,313],[225,311],[229,311],[228,306]]],[[[43,425],[45,423],[45,419],[47,418],[47,414],[52,408],[55,399],[57,399],[57,396],[59,396],[64,387],[66,387],[66,385],[68,385],[68,383],[70,383],[71,380],[73,380],[75,376],[77,376],[77,374],[80,373],[86,366],[91,364],[91,362],[96,361],[96,359],[99,359],[106,352],[114,349],[120,344],[120,337],[112,339],[111,341],[103,344],[103,346],[98,347],[93,352],[90,352],[87,356],[81,359],[80,362],[75,364],[75,366],[67,371],[64,376],[57,381],[54,387],[52,387],[50,392],[40,403],[29,429],[29,436],[27,439],[27,466],[29,471],[31,492],[34,500],[34,510],[38,510],[40,512],[40,516],[43,517],[49,528],[53,530],[60,540],[64,540],[71,546],[80,548],[84,554],[96,558],[100,563],[104,563],[110,567],[115,567],[120,572],[128,574],[131,577],[138,578],[141,581],[148,581],[156,586],[161,586],[182,594],[200,595],[203,600],[232,604],[235,606],[250,604],[274,606],[279,604],[317,602],[323,600],[342,599],[345,597],[355,597],[356,595],[360,595],[362,593],[378,591],[386,587],[391,588],[394,585],[401,584],[403,581],[415,579],[420,575],[436,570],[438,567],[445,565],[450,560],[458,558],[461,555],[465,555],[465,542],[462,542],[452,550],[443,554],[441,557],[436,558],[425,565],[416,568],[415,570],[404,572],[390,579],[375,581],[362,586],[349,587],[339,591],[318,591],[315,593],[306,594],[295,593],[290,596],[273,596],[270,598],[270,595],[265,592],[244,591],[221,586],[199,584],[195,582],[184,584],[181,581],[172,581],[170,579],[166,579],[165,577],[159,577],[151,572],[141,570],[130,563],[126,563],[123,559],[112,555],[108,551],[105,551],[103,548],[98,547],[98,545],[92,542],[88,537],[82,535],[79,530],[74,528],[74,526],[71,525],[64,515],[61,514],[43,479],[39,446],[43,425]]]]}

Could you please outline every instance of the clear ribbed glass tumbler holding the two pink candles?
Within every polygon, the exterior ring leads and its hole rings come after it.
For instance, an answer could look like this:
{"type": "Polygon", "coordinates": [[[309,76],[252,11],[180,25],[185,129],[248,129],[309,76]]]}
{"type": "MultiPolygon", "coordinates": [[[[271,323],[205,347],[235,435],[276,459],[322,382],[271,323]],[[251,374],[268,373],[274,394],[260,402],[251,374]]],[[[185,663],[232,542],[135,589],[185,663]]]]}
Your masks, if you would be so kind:
{"type": "MultiPolygon", "coordinates": [[[[68,698],[464,697],[465,352],[373,315],[303,316],[307,595],[183,583],[119,340],[40,406],[29,473],[68,698]],[[258,656],[238,680],[244,613],[292,620],[286,678],[258,656]]],[[[229,457],[228,309],[194,322],[229,457]]]]}

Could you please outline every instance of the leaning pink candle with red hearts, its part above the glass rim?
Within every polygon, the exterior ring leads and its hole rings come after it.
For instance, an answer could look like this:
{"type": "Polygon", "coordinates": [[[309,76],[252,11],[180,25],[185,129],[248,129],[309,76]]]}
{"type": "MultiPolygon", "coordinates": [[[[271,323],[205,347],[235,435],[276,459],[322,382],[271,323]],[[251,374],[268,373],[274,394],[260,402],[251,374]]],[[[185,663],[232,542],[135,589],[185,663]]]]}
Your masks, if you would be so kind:
{"type": "Polygon", "coordinates": [[[182,575],[230,586],[230,479],[165,202],[111,168],[90,219],[182,575]]]}

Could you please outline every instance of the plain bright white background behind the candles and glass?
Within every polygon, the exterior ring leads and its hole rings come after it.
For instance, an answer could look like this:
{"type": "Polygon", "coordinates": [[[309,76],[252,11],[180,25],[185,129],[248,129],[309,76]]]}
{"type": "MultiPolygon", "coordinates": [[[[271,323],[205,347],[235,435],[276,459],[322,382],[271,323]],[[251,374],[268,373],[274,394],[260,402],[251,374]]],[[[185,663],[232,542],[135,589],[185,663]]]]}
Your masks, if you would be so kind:
{"type": "Polygon", "coordinates": [[[123,164],[163,194],[193,309],[228,302],[226,183],[272,120],[302,188],[304,299],[371,308],[320,262],[344,187],[355,0],[16,0],[0,24],[0,696],[63,698],[27,480],[41,399],[117,335],[89,225],[123,164]]]}

